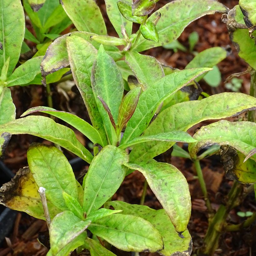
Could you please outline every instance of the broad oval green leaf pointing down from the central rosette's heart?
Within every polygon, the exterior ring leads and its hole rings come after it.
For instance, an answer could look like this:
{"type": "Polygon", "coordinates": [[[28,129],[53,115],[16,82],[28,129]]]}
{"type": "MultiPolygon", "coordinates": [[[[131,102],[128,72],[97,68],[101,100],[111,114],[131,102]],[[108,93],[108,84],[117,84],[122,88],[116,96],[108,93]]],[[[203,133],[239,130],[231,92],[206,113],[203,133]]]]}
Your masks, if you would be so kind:
{"type": "Polygon", "coordinates": [[[116,192],[125,177],[122,165],[127,162],[127,153],[112,145],[107,145],[94,157],[84,183],[86,214],[99,209],[116,192]]]}

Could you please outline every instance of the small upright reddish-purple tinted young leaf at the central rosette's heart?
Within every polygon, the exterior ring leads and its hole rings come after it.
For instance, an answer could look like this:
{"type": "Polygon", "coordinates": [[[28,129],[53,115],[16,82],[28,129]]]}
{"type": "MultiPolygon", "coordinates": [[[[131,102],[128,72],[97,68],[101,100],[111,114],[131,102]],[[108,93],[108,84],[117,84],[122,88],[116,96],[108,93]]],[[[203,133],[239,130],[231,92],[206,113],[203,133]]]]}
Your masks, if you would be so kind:
{"type": "Polygon", "coordinates": [[[117,118],[117,134],[121,133],[122,129],[133,115],[139,101],[140,91],[140,87],[134,88],[133,90],[130,90],[123,98],[117,118]]]}

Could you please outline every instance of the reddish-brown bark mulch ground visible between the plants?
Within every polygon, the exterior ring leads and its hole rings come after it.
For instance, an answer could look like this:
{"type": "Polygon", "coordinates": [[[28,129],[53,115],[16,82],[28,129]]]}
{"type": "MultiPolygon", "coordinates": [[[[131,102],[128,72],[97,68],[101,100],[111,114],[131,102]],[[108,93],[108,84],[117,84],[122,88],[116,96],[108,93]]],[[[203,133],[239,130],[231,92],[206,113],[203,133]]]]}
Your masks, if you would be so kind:
{"type": "MultiPolygon", "coordinates": [[[[115,35],[114,29],[107,21],[105,6],[103,1],[97,1],[104,13],[105,21],[108,25],[109,34],[115,35]]],[[[156,8],[163,6],[166,2],[161,0],[157,3],[156,8]]],[[[232,8],[238,4],[238,0],[223,0],[220,1],[227,7],[232,8]]],[[[30,24],[27,27],[31,29],[30,24]]],[[[230,47],[231,53],[222,62],[218,64],[221,72],[222,82],[217,88],[210,87],[205,82],[200,82],[204,92],[208,94],[216,94],[223,91],[229,91],[224,86],[225,79],[237,72],[245,71],[248,65],[238,56],[235,48],[229,40],[228,31],[226,25],[221,22],[221,14],[208,15],[200,18],[199,20],[192,22],[185,31],[179,37],[179,42],[183,44],[187,49],[189,48],[188,37],[191,32],[196,31],[199,34],[199,41],[195,45],[194,51],[201,52],[207,48],[220,46],[230,47]]],[[[67,31],[66,31],[67,32],[67,31]]],[[[163,47],[156,47],[145,51],[145,54],[156,57],[160,62],[170,65],[175,68],[184,69],[185,66],[193,59],[193,53],[187,52],[173,52],[172,50],[164,49],[163,47]]],[[[240,92],[249,94],[250,76],[249,74],[240,76],[243,79],[240,92]]],[[[67,92],[69,101],[66,103],[66,98],[60,93],[60,87],[52,85],[52,97],[54,107],[59,110],[72,111],[81,118],[89,121],[86,109],[83,105],[81,97],[76,87],[72,87],[67,92]]],[[[12,96],[17,108],[17,118],[28,108],[32,106],[47,106],[45,88],[42,86],[28,86],[28,87],[15,87],[12,88],[12,96]]],[[[210,121],[209,121],[210,122],[210,121]]],[[[203,122],[198,124],[208,124],[209,122],[203,122]]],[[[190,129],[190,133],[193,134],[196,127],[190,129]]],[[[90,143],[86,140],[81,133],[75,130],[75,133],[81,143],[89,148],[90,143]]],[[[15,173],[19,168],[27,166],[27,148],[32,142],[42,142],[49,144],[48,141],[31,135],[13,135],[10,140],[9,146],[6,152],[6,159],[4,163],[9,169],[15,173]]],[[[68,159],[73,159],[75,155],[68,151],[64,151],[68,159]]],[[[175,165],[186,177],[191,192],[192,200],[192,214],[188,225],[188,229],[193,239],[193,253],[202,245],[202,240],[205,236],[208,228],[207,209],[205,206],[204,198],[200,190],[199,182],[195,177],[195,170],[192,162],[183,158],[171,157],[170,152],[157,157],[159,161],[166,161],[175,165]]],[[[233,181],[227,180],[224,177],[224,169],[220,163],[219,157],[207,158],[201,161],[204,178],[207,189],[209,191],[209,198],[212,202],[212,207],[216,210],[219,205],[223,203],[224,197],[228,194],[233,181]]],[[[86,170],[88,166],[84,165],[82,169],[86,170]]],[[[76,175],[79,173],[77,172],[76,175]]],[[[142,195],[143,185],[145,178],[140,172],[135,171],[128,175],[122,183],[120,189],[116,192],[113,199],[123,200],[132,204],[140,204],[140,197],[142,195]]],[[[147,189],[145,197],[145,205],[160,209],[161,205],[156,199],[150,188],[147,189]]],[[[251,193],[247,196],[244,202],[233,209],[229,216],[229,223],[239,224],[244,218],[237,215],[237,212],[246,212],[256,210],[255,196],[251,193]]],[[[38,241],[38,232],[47,230],[46,223],[42,220],[34,219],[25,213],[18,213],[16,221],[13,226],[12,233],[6,238],[0,248],[0,256],[9,255],[35,255],[43,256],[47,254],[47,249],[43,247],[38,241]]],[[[220,239],[219,249],[215,255],[256,255],[255,248],[255,223],[248,229],[243,229],[239,232],[225,233],[220,239]]],[[[117,255],[131,255],[130,253],[124,253],[117,251],[117,255]]],[[[192,254],[193,254],[192,253],[192,254]]],[[[72,254],[73,255],[73,254],[72,254]]],[[[140,255],[159,255],[150,253],[141,253],[140,255]]]]}

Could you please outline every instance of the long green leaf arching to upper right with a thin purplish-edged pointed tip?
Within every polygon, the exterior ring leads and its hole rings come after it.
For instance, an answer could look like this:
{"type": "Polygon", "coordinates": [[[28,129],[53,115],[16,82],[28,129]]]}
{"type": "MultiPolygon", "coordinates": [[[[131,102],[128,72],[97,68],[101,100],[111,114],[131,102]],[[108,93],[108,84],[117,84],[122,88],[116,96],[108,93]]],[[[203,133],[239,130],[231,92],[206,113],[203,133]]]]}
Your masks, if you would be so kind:
{"type": "Polygon", "coordinates": [[[161,102],[207,71],[209,68],[177,71],[152,84],[140,96],[135,112],[127,123],[121,145],[138,137],[145,130],[161,102]]]}

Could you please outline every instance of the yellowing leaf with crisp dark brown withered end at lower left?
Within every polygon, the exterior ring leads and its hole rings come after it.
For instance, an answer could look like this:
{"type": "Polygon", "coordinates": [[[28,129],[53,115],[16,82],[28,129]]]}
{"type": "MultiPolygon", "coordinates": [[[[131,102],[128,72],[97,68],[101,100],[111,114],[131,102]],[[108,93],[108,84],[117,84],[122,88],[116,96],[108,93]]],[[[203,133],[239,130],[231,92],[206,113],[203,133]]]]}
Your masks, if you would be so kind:
{"type": "MultiPolygon", "coordinates": [[[[38,186],[28,167],[18,170],[11,181],[2,185],[0,204],[13,210],[26,212],[37,219],[45,219],[38,186]]],[[[47,206],[52,218],[61,212],[49,201],[47,206]]]]}

